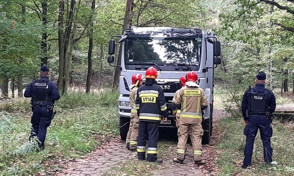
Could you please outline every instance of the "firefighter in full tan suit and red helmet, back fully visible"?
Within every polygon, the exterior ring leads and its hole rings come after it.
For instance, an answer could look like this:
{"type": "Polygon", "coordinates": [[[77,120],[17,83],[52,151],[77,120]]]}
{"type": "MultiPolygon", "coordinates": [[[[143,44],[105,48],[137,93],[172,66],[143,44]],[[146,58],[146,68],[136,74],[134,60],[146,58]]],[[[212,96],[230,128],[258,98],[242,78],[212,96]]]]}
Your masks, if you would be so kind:
{"type": "Polygon", "coordinates": [[[201,158],[203,135],[201,122],[202,111],[207,108],[208,100],[203,89],[197,84],[198,75],[195,71],[187,73],[186,81],[187,86],[180,89],[173,104],[173,110],[180,109],[177,157],[173,158],[173,162],[182,164],[185,160],[187,139],[191,130],[195,164],[205,164],[201,158]]]}

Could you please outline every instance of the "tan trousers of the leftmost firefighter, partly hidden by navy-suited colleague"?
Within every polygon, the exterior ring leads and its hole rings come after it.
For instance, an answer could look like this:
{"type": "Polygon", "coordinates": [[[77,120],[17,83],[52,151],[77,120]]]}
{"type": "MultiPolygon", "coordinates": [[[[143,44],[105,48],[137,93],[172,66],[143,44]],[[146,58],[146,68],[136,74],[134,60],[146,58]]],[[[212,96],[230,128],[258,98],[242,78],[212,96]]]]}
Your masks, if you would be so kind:
{"type": "Polygon", "coordinates": [[[131,113],[130,127],[127,134],[126,145],[130,145],[130,149],[137,149],[137,141],[139,135],[139,117],[137,113],[131,113]]]}

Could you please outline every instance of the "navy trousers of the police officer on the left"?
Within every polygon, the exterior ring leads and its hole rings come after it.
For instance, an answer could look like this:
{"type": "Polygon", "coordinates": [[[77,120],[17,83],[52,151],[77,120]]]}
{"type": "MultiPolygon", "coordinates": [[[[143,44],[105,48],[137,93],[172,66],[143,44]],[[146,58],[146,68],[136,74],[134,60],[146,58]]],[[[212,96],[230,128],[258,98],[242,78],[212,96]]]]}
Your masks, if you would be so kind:
{"type": "Polygon", "coordinates": [[[34,108],[34,111],[33,111],[33,116],[31,119],[32,131],[31,131],[30,140],[36,136],[40,141],[39,147],[41,149],[44,148],[47,128],[51,124],[52,114],[53,114],[53,111],[47,112],[47,107],[34,108]]]}

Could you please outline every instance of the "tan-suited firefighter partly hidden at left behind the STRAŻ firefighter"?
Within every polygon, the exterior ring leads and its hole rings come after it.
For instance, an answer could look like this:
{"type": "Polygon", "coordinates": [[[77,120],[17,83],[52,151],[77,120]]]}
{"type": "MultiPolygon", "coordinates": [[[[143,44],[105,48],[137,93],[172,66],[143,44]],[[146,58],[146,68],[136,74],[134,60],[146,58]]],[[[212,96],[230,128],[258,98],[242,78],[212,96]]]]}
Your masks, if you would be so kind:
{"type": "Polygon", "coordinates": [[[132,76],[132,84],[130,86],[131,93],[130,93],[130,105],[131,109],[131,116],[130,116],[130,127],[126,139],[126,147],[135,152],[137,150],[137,138],[139,133],[139,117],[137,115],[137,109],[135,106],[135,100],[137,97],[137,91],[140,86],[143,84],[144,76],[142,74],[133,74],[132,76]]]}

